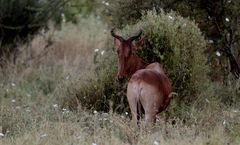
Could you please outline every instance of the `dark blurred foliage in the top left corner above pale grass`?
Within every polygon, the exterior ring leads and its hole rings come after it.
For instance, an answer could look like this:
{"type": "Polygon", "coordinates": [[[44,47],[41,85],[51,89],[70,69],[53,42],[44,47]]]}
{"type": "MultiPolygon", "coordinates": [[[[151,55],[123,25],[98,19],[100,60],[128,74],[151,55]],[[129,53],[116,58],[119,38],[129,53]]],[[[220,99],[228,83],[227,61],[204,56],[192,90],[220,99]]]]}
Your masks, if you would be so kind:
{"type": "Polygon", "coordinates": [[[32,39],[48,21],[60,22],[66,0],[0,0],[0,58],[17,56],[17,46],[32,39]]]}

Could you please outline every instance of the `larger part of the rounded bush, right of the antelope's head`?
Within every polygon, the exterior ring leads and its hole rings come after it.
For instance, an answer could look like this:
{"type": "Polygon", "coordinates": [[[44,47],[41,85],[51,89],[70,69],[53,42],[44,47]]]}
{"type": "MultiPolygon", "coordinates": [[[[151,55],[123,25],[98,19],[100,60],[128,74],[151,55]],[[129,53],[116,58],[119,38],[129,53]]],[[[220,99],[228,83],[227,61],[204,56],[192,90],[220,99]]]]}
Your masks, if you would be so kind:
{"type": "Polygon", "coordinates": [[[206,90],[208,66],[203,51],[206,42],[197,25],[174,12],[159,15],[148,11],[135,25],[121,33],[130,36],[143,29],[145,44],[138,54],[147,62],[164,65],[178,98],[192,101],[206,90]]]}

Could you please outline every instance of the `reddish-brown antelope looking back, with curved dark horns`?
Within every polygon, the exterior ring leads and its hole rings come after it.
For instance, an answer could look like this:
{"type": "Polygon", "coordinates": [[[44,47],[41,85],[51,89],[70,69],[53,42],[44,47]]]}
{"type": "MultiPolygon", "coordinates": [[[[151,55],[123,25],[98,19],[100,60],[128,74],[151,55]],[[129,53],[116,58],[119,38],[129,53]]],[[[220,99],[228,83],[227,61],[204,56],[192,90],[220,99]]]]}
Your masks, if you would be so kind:
{"type": "Polygon", "coordinates": [[[111,30],[111,35],[114,37],[118,55],[117,78],[129,79],[127,99],[132,120],[138,125],[140,116],[144,113],[145,123],[155,123],[156,114],[169,105],[174,94],[171,83],[161,64],[147,64],[136,55],[135,51],[144,40],[141,37],[142,30],[127,40],[115,34],[114,29],[111,30]]]}

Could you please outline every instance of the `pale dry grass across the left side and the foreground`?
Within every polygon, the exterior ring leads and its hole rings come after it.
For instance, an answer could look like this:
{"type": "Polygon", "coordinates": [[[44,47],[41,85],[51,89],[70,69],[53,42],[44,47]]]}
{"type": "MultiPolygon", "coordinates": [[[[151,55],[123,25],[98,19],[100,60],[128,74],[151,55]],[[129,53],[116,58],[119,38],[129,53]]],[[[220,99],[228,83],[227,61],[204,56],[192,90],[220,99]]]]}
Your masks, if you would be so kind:
{"type": "MultiPolygon", "coordinates": [[[[201,109],[193,105],[185,112],[188,120],[175,115],[166,122],[162,113],[150,129],[136,128],[125,113],[63,108],[59,90],[91,76],[94,50],[101,52],[107,39],[104,29],[94,18],[78,26],[65,24],[61,31],[37,36],[28,49],[20,49],[17,64],[1,69],[0,144],[239,144],[239,106],[222,107],[214,99],[202,102],[201,109]],[[53,44],[46,48],[50,36],[53,44]]],[[[174,109],[168,108],[178,114],[174,109]]]]}

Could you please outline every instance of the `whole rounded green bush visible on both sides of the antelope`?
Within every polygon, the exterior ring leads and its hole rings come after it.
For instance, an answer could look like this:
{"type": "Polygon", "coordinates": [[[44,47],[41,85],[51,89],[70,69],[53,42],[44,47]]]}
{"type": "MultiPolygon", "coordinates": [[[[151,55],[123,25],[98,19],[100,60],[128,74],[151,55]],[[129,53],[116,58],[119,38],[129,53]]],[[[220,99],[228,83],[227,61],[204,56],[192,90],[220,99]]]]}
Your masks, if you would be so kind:
{"type": "MultiPolygon", "coordinates": [[[[189,105],[202,96],[203,90],[204,94],[207,94],[208,66],[205,65],[203,54],[206,42],[194,22],[173,12],[162,11],[157,15],[154,11],[149,11],[137,24],[128,25],[117,33],[127,37],[140,28],[144,31],[145,44],[138,52],[139,55],[148,62],[157,61],[164,64],[174,91],[179,94],[178,102],[181,100],[189,105]]],[[[112,48],[112,38],[109,42],[107,45],[112,48]]],[[[78,80],[68,87],[68,93],[65,95],[67,101],[64,102],[76,107],[77,98],[86,108],[106,111],[110,108],[109,102],[113,103],[113,109],[119,105],[123,105],[122,109],[127,108],[126,101],[121,101],[126,98],[126,83],[119,84],[115,80],[116,60],[115,49],[109,49],[96,64],[96,68],[99,69],[89,76],[86,83],[78,80]]]]}

